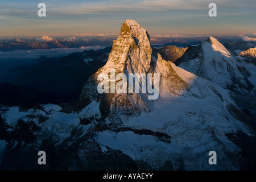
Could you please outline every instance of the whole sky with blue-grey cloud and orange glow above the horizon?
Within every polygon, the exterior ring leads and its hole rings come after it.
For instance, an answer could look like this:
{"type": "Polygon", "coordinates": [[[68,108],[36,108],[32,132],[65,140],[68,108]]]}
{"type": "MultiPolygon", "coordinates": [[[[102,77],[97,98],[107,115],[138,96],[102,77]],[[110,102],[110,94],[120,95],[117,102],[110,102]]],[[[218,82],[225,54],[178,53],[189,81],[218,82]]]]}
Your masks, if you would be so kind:
{"type": "Polygon", "coordinates": [[[255,35],[256,1],[0,0],[0,36],[119,35],[126,19],[155,36],[255,35]],[[212,2],[216,17],[208,15],[212,2]],[[39,3],[46,17],[38,16],[39,3]]]}

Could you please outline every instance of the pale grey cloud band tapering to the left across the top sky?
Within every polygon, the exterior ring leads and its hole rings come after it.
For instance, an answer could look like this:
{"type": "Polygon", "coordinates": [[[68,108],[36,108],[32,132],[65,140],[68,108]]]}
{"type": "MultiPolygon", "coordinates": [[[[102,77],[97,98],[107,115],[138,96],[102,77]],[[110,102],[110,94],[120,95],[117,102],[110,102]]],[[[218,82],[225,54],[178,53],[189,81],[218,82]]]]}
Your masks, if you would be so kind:
{"type": "MultiPolygon", "coordinates": [[[[129,1],[130,2],[130,1],[129,1]]],[[[208,10],[212,0],[144,0],[127,3],[126,1],[106,1],[82,3],[49,9],[52,13],[64,14],[123,14],[123,13],[159,13],[170,10],[208,10]]],[[[230,9],[236,7],[256,7],[254,0],[215,0],[217,7],[230,9]]]]}

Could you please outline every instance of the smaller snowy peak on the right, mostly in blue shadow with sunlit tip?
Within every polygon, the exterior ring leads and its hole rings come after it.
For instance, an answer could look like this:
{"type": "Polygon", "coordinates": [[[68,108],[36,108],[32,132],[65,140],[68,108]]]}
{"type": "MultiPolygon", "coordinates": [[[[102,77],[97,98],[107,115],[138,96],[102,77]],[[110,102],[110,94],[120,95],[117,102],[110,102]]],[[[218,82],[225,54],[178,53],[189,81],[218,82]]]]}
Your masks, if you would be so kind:
{"type": "Polygon", "coordinates": [[[246,74],[236,64],[236,59],[212,37],[201,42],[199,46],[189,46],[175,64],[234,92],[243,93],[253,89],[246,74]]]}

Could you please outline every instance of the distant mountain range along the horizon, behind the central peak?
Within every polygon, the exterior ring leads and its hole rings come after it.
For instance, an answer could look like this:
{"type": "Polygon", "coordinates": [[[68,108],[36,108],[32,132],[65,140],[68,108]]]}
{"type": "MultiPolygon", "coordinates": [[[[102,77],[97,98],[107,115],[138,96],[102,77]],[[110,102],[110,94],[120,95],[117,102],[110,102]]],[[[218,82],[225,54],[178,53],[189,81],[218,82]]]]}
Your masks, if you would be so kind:
{"type": "MultiPolygon", "coordinates": [[[[38,38],[14,38],[0,40],[0,51],[13,51],[16,49],[52,49],[52,48],[77,48],[85,46],[112,46],[116,36],[69,36],[69,37],[52,37],[41,36],[38,38]]],[[[151,38],[152,46],[161,48],[163,46],[188,47],[191,44],[199,44],[207,37],[155,37],[151,38]]],[[[255,42],[255,38],[245,36],[238,38],[219,37],[218,40],[224,43],[227,48],[235,46],[239,42],[241,51],[251,48],[250,43],[255,42]],[[232,42],[232,43],[230,43],[232,42]],[[248,44],[249,43],[249,44],[248,44]],[[229,45],[232,44],[232,45],[229,45]],[[244,47],[244,48],[243,48],[244,47]]]]}

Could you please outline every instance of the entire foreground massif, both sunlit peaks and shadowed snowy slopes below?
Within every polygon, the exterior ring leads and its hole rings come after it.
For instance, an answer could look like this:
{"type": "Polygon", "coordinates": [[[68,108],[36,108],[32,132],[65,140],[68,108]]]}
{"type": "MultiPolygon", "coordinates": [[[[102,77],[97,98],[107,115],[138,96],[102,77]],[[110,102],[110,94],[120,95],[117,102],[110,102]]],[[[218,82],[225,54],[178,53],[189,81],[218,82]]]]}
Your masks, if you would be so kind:
{"type": "Polygon", "coordinates": [[[248,122],[253,116],[230,94],[251,92],[253,85],[234,61],[209,38],[188,47],[175,65],[152,48],[144,28],[126,20],[107,63],[85,82],[78,105],[0,107],[0,169],[253,168],[254,162],[243,162],[254,160],[254,150],[241,142],[255,147],[255,123],[248,122]],[[152,74],[146,85],[158,97],[150,99],[147,87],[144,92],[144,78],[135,82],[139,92],[125,89],[131,74],[152,74]],[[46,166],[36,163],[39,150],[46,151],[46,166]],[[208,163],[209,151],[216,151],[217,165],[208,163]]]}

